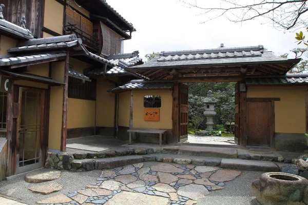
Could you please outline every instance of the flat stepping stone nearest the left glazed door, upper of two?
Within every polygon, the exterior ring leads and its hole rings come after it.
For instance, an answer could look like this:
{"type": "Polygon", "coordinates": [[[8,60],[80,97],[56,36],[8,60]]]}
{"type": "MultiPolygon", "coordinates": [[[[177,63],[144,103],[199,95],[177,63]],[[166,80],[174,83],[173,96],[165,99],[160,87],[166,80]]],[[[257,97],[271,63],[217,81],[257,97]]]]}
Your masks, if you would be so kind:
{"type": "Polygon", "coordinates": [[[41,183],[45,181],[52,181],[59,179],[61,176],[61,171],[38,171],[29,173],[25,176],[25,181],[29,183],[41,183]]]}

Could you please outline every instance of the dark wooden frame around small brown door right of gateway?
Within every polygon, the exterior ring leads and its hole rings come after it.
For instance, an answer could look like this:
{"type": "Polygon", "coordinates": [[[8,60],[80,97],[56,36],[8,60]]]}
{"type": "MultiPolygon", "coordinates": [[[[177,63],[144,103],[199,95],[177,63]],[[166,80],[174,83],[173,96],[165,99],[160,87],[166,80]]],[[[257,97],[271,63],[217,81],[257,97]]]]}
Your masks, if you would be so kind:
{"type": "MultiPolygon", "coordinates": [[[[267,97],[246,98],[246,107],[247,107],[248,102],[261,102],[261,103],[269,102],[270,103],[270,106],[269,106],[269,138],[270,139],[269,139],[269,142],[270,142],[270,147],[272,149],[275,148],[275,101],[280,101],[280,98],[267,98],[267,97]]],[[[248,119],[247,109],[246,109],[246,119],[248,119]]],[[[247,130],[248,129],[246,129],[246,132],[247,130]]]]}

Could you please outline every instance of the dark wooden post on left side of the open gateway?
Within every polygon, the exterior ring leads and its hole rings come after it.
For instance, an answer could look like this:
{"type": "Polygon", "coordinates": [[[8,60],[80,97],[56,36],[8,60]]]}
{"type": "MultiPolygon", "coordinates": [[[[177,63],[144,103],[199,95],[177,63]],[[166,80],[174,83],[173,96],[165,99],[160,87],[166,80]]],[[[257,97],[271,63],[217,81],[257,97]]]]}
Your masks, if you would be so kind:
{"type": "Polygon", "coordinates": [[[172,143],[179,142],[179,83],[172,90],[172,143]]]}

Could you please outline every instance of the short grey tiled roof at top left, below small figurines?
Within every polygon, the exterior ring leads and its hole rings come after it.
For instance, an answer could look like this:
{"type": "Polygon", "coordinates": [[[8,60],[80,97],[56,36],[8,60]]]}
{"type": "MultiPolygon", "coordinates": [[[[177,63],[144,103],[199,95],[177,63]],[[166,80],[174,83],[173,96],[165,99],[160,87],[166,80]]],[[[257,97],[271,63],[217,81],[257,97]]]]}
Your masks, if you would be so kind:
{"type": "Polygon", "coordinates": [[[31,35],[31,32],[27,29],[24,29],[20,26],[17,26],[15,24],[12,24],[11,22],[8,22],[7,20],[0,19],[0,30],[11,33],[15,36],[24,38],[24,39],[32,39],[33,36],[31,35]]]}

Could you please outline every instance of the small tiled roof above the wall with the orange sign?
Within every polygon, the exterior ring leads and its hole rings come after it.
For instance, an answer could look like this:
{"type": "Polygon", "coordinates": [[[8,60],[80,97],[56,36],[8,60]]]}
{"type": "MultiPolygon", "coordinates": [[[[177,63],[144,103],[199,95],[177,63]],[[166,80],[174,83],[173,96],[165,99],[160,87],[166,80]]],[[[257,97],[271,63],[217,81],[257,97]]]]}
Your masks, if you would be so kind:
{"type": "Polygon", "coordinates": [[[174,86],[172,82],[151,82],[145,80],[131,80],[130,83],[117,88],[112,88],[108,92],[118,91],[118,90],[142,90],[142,89],[171,89],[174,86]]]}

